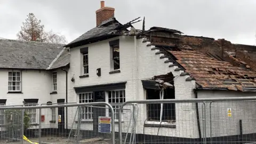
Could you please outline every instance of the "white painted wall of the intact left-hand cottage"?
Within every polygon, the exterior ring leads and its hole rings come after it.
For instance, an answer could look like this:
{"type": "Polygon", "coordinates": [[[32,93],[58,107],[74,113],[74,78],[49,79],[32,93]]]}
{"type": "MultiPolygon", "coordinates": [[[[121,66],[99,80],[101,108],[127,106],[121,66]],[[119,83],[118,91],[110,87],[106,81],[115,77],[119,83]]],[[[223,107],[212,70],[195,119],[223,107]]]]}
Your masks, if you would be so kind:
{"type": "MultiPolygon", "coordinates": [[[[52,92],[52,73],[46,70],[22,70],[22,93],[7,93],[8,92],[8,71],[0,70],[0,85],[1,99],[7,99],[6,105],[23,105],[24,99],[38,99],[38,104],[46,103],[47,101],[57,102],[57,99],[66,99],[66,74],[63,79],[63,73],[58,71],[57,85],[58,94],[50,95],[52,92]],[[63,85],[65,84],[65,85],[63,85]],[[65,89],[65,92],[63,90],[65,89]],[[64,94],[65,93],[65,94],[64,94]]],[[[42,129],[49,127],[58,127],[54,124],[50,125],[51,109],[42,109],[42,115],[45,115],[45,121],[42,122],[42,129]]],[[[56,111],[58,116],[58,110],[56,111]]],[[[37,110],[37,123],[39,122],[39,111],[37,110]]],[[[56,118],[56,120],[58,120],[56,118]]],[[[33,127],[32,127],[33,128],[33,127]]],[[[35,127],[34,127],[35,128],[35,127]]],[[[38,127],[37,127],[38,128],[38,127]]]]}

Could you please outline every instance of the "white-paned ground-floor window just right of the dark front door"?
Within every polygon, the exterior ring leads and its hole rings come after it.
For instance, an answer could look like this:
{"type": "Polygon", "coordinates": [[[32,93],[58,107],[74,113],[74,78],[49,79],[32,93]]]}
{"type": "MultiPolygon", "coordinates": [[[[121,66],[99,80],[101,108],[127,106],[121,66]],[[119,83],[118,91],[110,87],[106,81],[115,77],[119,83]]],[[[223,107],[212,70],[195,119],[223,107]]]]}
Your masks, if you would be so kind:
{"type": "MultiPolygon", "coordinates": [[[[125,102],[125,90],[113,90],[108,92],[108,102],[114,108],[115,119],[119,118],[118,110],[122,103],[125,102]]],[[[111,115],[111,114],[109,114],[111,115]]]]}

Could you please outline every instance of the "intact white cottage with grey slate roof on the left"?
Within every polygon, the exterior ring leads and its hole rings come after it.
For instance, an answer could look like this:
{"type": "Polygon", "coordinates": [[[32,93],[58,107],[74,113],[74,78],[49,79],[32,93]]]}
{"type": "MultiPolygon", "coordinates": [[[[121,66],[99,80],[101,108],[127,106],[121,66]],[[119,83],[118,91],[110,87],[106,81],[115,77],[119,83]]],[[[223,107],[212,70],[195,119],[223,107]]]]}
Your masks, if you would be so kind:
{"type": "MultiPolygon", "coordinates": [[[[0,39],[0,105],[39,106],[67,102],[69,52],[62,44],[0,39]]],[[[64,109],[42,109],[42,129],[61,129],[64,109]],[[58,115],[62,122],[58,123],[58,115]]],[[[38,129],[38,110],[29,110],[30,123],[38,129]]],[[[0,125],[8,123],[1,111],[0,125]]],[[[3,134],[3,132],[2,132],[3,134]]],[[[3,136],[3,135],[2,135],[3,136]]]]}

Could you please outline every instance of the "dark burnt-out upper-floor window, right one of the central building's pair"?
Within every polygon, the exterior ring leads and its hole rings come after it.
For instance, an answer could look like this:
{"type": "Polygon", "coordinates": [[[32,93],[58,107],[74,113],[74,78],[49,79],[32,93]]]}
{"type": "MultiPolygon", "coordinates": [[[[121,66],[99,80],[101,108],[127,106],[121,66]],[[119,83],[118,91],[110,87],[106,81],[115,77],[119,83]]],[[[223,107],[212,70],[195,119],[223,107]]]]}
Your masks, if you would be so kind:
{"type": "Polygon", "coordinates": [[[113,70],[120,69],[119,39],[109,42],[110,45],[110,66],[113,70]]]}

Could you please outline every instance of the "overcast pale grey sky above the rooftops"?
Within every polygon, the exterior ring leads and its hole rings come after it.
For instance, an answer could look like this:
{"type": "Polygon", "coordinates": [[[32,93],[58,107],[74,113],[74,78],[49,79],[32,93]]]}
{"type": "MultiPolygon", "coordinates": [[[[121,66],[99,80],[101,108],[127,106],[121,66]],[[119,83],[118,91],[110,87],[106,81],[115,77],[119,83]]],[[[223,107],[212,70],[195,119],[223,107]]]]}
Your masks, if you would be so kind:
{"type": "MultiPolygon", "coordinates": [[[[186,35],[225,38],[232,43],[255,45],[255,0],[105,0],[115,8],[121,23],[146,17],[146,29],[158,26],[186,35]]],[[[95,27],[100,0],[0,0],[0,37],[16,39],[28,13],[34,13],[45,30],[73,41],[95,27]]],[[[142,22],[134,25],[141,29],[142,22]]]]}

